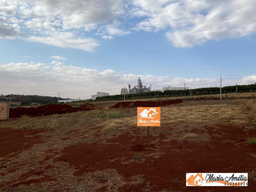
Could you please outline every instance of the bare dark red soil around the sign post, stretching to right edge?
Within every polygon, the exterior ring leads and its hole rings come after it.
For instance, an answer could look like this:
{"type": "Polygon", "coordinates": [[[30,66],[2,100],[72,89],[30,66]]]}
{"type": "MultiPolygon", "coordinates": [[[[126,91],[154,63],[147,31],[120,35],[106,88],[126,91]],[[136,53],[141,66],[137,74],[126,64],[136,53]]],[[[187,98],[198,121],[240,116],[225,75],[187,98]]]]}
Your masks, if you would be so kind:
{"type": "MultiPolygon", "coordinates": [[[[160,135],[155,147],[157,152],[164,155],[158,158],[145,156],[156,152],[141,147],[145,146],[146,136],[136,138],[121,135],[108,140],[107,144],[79,143],[66,147],[63,150],[65,155],[55,161],[64,161],[76,166],[79,171],[75,175],[103,169],[116,169],[127,180],[137,174],[144,175],[145,182],[141,186],[122,188],[122,191],[127,192],[144,191],[142,188],[145,188],[148,181],[152,187],[150,191],[160,191],[164,188],[174,191],[255,191],[256,180],[252,179],[249,172],[256,168],[255,158],[251,155],[256,154],[256,146],[247,145],[245,138],[255,135],[256,130],[244,131],[241,127],[224,125],[205,128],[211,135],[211,140],[206,144],[176,140],[164,142],[165,136],[160,135]],[[134,151],[140,152],[142,159],[122,164],[134,159],[135,155],[131,153],[134,151]],[[249,187],[186,187],[186,172],[248,172],[249,187]]],[[[155,139],[157,138],[152,138],[155,139]]]]}

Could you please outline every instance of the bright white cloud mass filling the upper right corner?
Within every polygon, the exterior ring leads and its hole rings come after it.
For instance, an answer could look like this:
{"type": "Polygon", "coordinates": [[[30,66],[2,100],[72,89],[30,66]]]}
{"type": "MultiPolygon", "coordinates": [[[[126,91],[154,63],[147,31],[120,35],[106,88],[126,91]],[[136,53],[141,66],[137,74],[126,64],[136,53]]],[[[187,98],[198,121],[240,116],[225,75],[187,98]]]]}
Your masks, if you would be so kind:
{"type": "MultiPolygon", "coordinates": [[[[147,19],[136,30],[167,30],[175,47],[192,47],[208,40],[250,36],[256,33],[255,0],[134,1],[147,19]]],[[[134,13],[135,14],[135,13],[134,13]]],[[[135,14],[136,16],[136,14],[135,14]]]]}

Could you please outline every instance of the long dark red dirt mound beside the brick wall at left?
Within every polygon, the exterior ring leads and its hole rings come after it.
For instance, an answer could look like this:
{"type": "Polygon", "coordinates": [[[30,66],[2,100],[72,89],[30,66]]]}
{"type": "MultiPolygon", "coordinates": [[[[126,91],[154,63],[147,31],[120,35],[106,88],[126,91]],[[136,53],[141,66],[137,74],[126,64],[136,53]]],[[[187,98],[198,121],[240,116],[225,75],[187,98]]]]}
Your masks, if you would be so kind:
{"type": "Polygon", "coordinates": [[[31,117],[36,117],[36,116],[46,116],[46,115],[52,115],[52,114],[63,114],[63,113],[74,113],[77,111],[88,111],[92,110],[92,108],[80,108],[76,107],[73,108],[70,105],[67,104],[51,104],[51,105],[42,105],[37,108],[10,108],[10,115],[9,118],[19,118],[21,116],[27,115],[31,117]]]}

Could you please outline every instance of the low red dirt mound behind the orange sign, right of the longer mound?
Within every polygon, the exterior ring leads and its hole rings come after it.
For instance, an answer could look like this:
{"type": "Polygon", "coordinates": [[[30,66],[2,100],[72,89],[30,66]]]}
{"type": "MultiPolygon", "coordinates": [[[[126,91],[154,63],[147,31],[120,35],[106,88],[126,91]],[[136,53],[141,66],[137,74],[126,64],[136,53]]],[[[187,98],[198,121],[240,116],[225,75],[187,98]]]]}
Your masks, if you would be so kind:
{"type": "Polygon", "coordinates": [[[182,100],[171,100],[171,101],[125,101],[116,103],[111,108],[133,108],[133,107],[162,107],[166,105],[174,105],[181,103],[182,100]]]}

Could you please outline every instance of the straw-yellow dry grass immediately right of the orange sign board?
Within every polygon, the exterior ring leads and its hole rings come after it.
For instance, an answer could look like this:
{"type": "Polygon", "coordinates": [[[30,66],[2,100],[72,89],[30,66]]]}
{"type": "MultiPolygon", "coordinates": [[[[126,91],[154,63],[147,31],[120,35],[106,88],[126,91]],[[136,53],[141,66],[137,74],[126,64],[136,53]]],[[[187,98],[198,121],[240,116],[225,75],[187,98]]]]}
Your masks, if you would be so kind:
{"type": "Polygon", "coordinates": [[[221,120],[231,124],[250,123],[249,111],[244,106],[230,104],[168,106],[161,108],[161,121],[168,124],[208,124],[221,120]]]}

